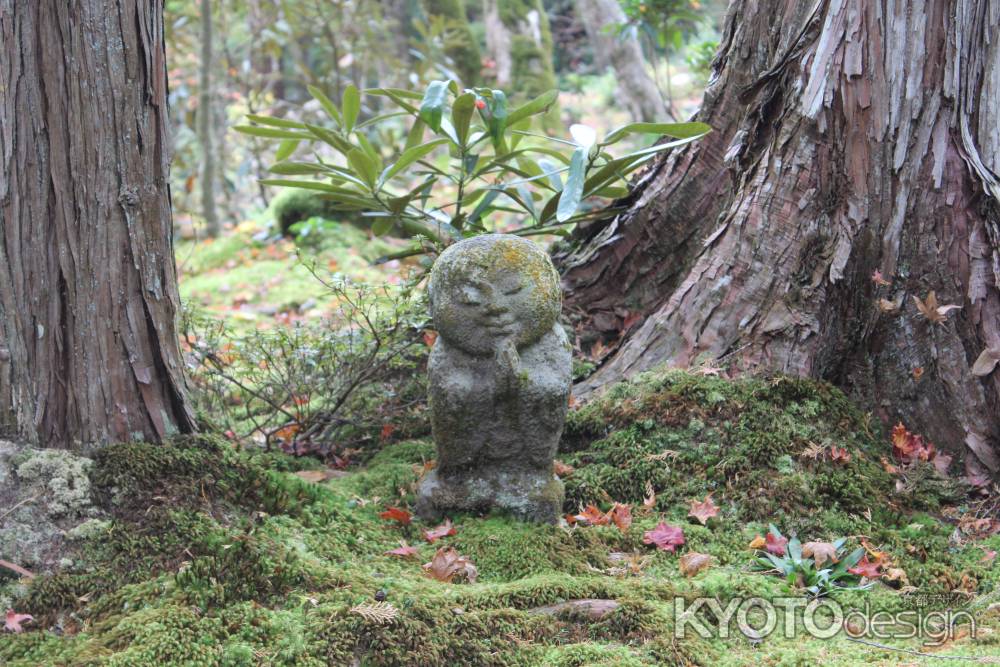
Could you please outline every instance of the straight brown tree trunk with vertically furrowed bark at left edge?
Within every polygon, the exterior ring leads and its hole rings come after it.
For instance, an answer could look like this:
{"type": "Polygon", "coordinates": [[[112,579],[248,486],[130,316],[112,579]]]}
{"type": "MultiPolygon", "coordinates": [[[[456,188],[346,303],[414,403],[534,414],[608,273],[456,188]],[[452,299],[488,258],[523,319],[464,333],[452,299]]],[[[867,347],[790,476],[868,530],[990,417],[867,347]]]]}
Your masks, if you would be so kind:
{"type": "Polygon", "coordinates": [[[193,429],[161,0],[0,0],[0,434],[193,429]]]}

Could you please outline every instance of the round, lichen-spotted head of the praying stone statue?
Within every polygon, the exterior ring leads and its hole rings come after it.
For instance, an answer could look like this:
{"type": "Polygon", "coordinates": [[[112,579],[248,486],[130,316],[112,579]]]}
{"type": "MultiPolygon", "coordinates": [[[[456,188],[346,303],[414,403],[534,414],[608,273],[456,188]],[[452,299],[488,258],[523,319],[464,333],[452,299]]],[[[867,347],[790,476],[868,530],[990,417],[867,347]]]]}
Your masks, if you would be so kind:
{"type": "Polygon", "coordinates": [[[510,234],[465,239],[441,253],[428,293],[438,333],[475,356],[538,341],[562,306],[559,274],[537,245],[510,234]]]}

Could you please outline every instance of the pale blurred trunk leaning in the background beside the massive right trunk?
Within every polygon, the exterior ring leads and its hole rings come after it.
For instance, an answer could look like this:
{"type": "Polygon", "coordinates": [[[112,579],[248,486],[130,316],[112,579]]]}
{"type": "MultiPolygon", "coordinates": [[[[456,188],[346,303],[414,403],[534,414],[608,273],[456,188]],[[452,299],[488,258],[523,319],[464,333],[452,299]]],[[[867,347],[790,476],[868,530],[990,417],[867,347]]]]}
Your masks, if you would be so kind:
{"type": "Polygon", "coordinates": [[[637,121],[662,120],[666,105],[646,69],[646,59],[635,39],[622,39],[616,26],[626,22],[618,0],[576,0],[576,11],[596,54],[614,68],[620,100],[637,121]]]}

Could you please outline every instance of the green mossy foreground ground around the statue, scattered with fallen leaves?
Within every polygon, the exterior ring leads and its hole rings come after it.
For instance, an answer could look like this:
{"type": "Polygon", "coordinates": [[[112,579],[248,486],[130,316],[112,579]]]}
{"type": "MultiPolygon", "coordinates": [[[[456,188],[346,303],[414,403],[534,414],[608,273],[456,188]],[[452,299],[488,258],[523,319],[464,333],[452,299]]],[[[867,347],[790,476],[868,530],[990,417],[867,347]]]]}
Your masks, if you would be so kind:
{"type": "MultiPolygon", "coordinates": [[[[670,371],[614,387],[571,413],[560,460],[567,512],[629,503],[634,523],[538,526],[503,516],[456,516],[457,534],[428,544],[414,520],[379,517],[407,507],[429,441],[387,444],[363,469],[321,483],[296,471],[308,459],[237,451],[211,436],[103,450],[92,472],[111,516],[73,569],[31,582],[0,581],[0,594],[35,623],[0,636],[6,665],[869,665],[937,664],[943,656],[1000,662],[1000,571],[984,560],[1000,537],[956,535],[966,489],[927,475],[897,490],[880,463],[887,437],[824,384],[726,380],[670,371]],[[836,445],[850,461],[812,458],[836,445]],[[649,488],[652,508],[643,509],[649,488]],[[707,526],[688,503],[711,492],[707,526]],[[953,509],[957,508],[957,509],[953,509]],[[643,544],[658,522],[681,526],[678,554],[643,544]],[[751,571],[748,543],[773,522],[803,541],[864,537],[908,577],[845,591],[845,607],[898,612],[969,609],[978,621],[939,646],[920,639],[850,641],[780,629],[750,641],[675,636],[675,605],[712,597],[800,596],[785,580],[751,571]],[[385,555],[401,541],[418,557],[385,555]],[[478,568],[475,583],[424,576],[442,544],[478,568]],[[712,565],[693,577],[679,555],[712,565]],[[650,558],[630,574],[612,553],[650,558]],[[958,592],[955,592],[958,591],[958,592]],[[537,608],[616,600],[594,619],[537,608]],[[377,600],[392,605],[359,613],[377,600]],[[937,658],[923,658],[902,650],[937,658]]],[[[935,624],[932,628],[940,628],[935,624]]],[[[734,626],[735,630],[735,626],[734,626]]],[[[960,663],[959,663],[960,664],[960,663]]]]}

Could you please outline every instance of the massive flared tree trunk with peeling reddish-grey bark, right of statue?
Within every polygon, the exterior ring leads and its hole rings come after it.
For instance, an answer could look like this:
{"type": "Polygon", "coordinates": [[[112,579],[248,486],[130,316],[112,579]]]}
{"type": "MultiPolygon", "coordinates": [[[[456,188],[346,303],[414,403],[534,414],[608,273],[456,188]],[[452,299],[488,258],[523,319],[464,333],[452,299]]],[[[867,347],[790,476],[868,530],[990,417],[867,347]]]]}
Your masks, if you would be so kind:
{"type": "Polygon", "coordinates": [[[585,342],[645,317],[574,395],[726,356],[1000,471],[1000,372],[971,370],[1000,348],[1000,1],[734,0],[698,120],[557,258],[585,342]]]}

